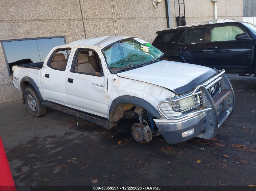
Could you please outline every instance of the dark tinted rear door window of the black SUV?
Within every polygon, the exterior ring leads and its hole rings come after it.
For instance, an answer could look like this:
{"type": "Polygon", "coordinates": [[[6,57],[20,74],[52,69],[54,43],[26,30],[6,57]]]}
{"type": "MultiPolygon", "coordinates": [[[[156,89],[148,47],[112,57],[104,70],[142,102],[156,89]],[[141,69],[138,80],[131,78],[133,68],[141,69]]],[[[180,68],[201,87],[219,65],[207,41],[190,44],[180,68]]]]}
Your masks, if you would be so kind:
{"type": "Polygon", "coordinates": [[[202,43],[205,39],[205,31],[206,27],[189,29],[184,33],[180,43],[202,43]]]}

